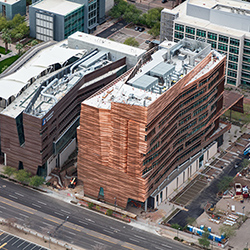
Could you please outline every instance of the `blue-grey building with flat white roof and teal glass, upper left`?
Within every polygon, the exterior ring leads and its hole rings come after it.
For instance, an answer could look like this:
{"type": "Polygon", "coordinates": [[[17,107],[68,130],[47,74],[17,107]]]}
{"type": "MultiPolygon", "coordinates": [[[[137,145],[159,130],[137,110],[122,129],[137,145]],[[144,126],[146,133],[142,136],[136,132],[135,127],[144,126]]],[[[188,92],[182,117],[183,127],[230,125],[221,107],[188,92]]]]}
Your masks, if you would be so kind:
{"type": "Polygon", "coordinates": [[[29,7],[30,36],[61,41],[76,31],[93,33],[105,20],[102,0],[42,0],[29,7]]]}

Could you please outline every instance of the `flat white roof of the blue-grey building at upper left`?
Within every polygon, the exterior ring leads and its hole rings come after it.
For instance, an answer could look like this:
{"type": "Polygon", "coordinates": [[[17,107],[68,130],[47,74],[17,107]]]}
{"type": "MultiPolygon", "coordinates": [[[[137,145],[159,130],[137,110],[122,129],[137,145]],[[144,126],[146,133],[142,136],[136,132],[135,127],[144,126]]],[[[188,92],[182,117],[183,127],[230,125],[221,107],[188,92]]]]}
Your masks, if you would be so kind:
{"type": "Polygon", "coordinates": [[[67,0],[42,0],[34,3],[32,6],[55,14],[67,15],[70,12],[80,8],[82,4],[67,0]]]}

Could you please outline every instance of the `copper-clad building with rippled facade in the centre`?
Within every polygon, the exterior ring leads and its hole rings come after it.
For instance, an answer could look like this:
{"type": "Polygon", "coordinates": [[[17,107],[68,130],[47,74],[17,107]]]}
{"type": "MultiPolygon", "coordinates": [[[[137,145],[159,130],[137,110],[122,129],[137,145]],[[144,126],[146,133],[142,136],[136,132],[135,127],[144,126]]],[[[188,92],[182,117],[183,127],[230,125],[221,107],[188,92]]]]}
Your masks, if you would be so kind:
{"type": "Polygon", "coordinates": [[[161,43],[121,76],[82,102],[78,178],[84,194],[126,207],[157,207],[188,181],[223,143],[230,124],[225,102],[226,57],[184,38],[161,43]]]}

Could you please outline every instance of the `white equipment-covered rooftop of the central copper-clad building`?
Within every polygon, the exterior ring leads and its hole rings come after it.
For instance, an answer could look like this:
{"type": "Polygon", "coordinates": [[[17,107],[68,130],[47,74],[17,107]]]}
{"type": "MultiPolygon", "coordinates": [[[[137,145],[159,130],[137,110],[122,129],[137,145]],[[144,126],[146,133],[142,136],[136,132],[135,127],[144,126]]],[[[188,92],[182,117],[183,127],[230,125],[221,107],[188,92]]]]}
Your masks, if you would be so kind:
{"type": "MultiPolygon", "coordinates": [[[[198,41],[186,38],[179,43],[163,42],[160,44],[159,50],[152,55],[151,61],[146,62],[140,69],[138,69],[136,75],[130,79],[128,83],[125,83],[127,80],[126,78],[121,79],[115,85],[110,86],[98,95],[93,95],[83,103],[101,109],[111,109],[112,102],[148,107],[159,96],[161,96],[162,93],[167,92],[168,89],[176,84],[176,82],[188,74],[205,56],[210,53],[211,46],[205,43],[203,43],[202,47],[199,47],[200,50],[198,47],[195,48],[194,46],[195,50],[192,51],[191,48],[193,45],[201,46],[198,44],[198,41]],[[189,43],[193,44],[191,47],[186,47],[189,43]],[[182,53],[174,55],[177,50],[186,53],[188,56],[185,57],[182,53]],[[172,56],[169,58],[167,55],[170,54],[172,54],[172,56]],[[193,59],[190,59],[189,57],[193,57],[193,59]],[[143,76],[149,76],[152,69],[163,63],[166,63],[165,70],[169,69],[169,74],[165,75],[163,78],[157,78],[152,75],[152,78],[157,80],[157,83],[153,87],[148,90],[146,87],[145,89],[141,89],[133,86],[134,82],[143,76]],[[173,65],[174,67],[170,67],[170,65],[173,65]],[[172,68],[175,68],[175,70],[172,71],[172,68]]],[[[212,54],[216,57],[216,60],[213,60],[213,56],[211,55],[210,63],[208,63],[207,66],[187,84],[206,74],[208,70],[215,67],[223,58],[223,56],[216,51],[213,51],[212,54]]],[[[164,75],[165,71],[162,73],[164,75]]]]}

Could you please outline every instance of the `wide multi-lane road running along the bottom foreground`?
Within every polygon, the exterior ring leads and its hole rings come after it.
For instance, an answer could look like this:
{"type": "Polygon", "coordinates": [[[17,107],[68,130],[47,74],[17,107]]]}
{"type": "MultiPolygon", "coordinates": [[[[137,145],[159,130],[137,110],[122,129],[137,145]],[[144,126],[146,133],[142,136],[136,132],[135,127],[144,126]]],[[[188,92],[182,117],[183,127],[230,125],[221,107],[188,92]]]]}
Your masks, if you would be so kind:
{"type": "Polygon", "coordinates": [[[105,249],[191,249],[4,179],[0,179],[0,217],[15,218],[30,229],[85,249],[96,245],[105,249]]]}

